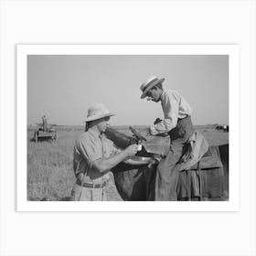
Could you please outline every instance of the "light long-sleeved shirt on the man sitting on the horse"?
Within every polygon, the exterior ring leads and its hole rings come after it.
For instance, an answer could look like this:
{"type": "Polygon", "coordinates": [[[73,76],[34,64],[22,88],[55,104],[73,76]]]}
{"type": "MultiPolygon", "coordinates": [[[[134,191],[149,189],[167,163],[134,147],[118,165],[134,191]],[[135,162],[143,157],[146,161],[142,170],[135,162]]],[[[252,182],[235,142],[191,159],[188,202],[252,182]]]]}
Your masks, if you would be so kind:
{"type": "Polygon", "coordinates": [[[164,90],[161,95],[161,104],[164,112],[164,120],[150,127],[150,133],[167,133],[176,127],[178,119],[190,116],[192,109],[187,101],[173,90],[164,90]]]}

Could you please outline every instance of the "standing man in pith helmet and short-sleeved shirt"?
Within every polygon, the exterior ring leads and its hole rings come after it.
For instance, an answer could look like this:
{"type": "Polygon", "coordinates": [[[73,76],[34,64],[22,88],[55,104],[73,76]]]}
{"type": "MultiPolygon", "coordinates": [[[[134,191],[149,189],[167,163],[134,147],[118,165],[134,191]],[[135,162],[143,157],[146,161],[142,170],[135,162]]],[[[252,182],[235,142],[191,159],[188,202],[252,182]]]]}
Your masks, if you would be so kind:
{"type": "Polygon", "coordinates": [[[88,110],[86,131],[74,146],[73,167],[77,180],[71,200],[107,200],[104,188],[110,179],[111,168],[138,150],[138,145],[133,144],[121,151],[104,135],[113,115],[101,103],[93,104],[88,110]]]}

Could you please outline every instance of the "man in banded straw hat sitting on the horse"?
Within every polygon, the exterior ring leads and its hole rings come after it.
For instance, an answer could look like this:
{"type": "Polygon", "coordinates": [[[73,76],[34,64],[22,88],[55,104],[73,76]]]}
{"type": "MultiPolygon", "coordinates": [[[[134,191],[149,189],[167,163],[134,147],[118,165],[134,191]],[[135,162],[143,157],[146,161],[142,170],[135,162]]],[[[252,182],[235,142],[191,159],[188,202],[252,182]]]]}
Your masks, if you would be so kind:
{"type": "Polygon", "coordinates": [[[163,120],[150,126],[150,133],[168,133],[171,139],[169,152],[156,169],[155,200],[176,201],[178,171],[175,165],[182,155],[184,144],[194,133],[194,127],[190,105],[177,91],[164,90],[164,80],[153,76],[140,89],[141,99],[147,97],[149,101],[161,102],[164,112],[163,120]]]}

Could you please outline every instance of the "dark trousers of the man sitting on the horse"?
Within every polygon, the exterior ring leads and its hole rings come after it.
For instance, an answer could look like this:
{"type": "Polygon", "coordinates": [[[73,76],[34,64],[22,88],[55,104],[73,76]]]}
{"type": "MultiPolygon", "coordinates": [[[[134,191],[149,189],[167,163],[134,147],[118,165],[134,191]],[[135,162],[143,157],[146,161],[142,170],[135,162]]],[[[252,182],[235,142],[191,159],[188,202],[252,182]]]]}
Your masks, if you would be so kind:
{"type": "Polygon", "coordinates": [[[176,163],[183,155],[184,145],[195,132],[191,117],[179,119],[176,127],[169,132],[171,138],[170,149],[156,168],[155,201],[176,201],[176,187],[178,169],[176,163]]]}

